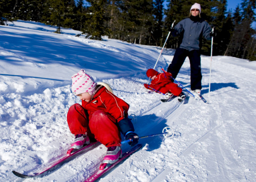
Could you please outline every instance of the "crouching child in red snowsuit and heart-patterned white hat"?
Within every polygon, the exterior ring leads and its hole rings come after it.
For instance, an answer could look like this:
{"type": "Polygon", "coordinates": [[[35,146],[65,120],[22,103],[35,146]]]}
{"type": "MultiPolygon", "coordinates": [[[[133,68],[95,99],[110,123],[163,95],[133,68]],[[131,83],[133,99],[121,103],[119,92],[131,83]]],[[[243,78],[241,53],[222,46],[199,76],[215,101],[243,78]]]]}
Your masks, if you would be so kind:
{"type": "Polygon", "coordinates": [[[82,100],[82,106],[72,105],[67,114],[69,129],[75,135],[71,149],[80,149],[96,139],[108,147],[102,164],[112,164],[121,156],[120,132],[125,139],[132,139],[129,145],[138,143],[139,137],[128,118],[129,104],[111,89],[94,82],[84,70],[72,76],[71,89],[82,100]]]}

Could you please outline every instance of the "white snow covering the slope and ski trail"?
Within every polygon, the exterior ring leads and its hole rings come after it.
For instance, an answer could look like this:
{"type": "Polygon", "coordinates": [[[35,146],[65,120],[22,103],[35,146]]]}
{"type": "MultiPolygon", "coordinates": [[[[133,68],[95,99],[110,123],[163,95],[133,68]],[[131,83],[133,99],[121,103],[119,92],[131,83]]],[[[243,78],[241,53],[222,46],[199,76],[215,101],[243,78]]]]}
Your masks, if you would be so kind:
{"type": "MultiPolygon", "coordinates": [[[[202,95],[162,103],[149,94],[146,70],[161,47],[131,44],[30,21],[0,26],[0,181],[21,181],[12,170],[39,172],[37,166],[65,153],[74,140],[66,116],[81,103],[71,92],[71,76],[85,69],[96,82],[109,83],[130,104],[139,136],[159,134],[169,126],[174,137],[141,139],[142,149],[100,181],[256,181],[256,61],[213,56],[202,58],[202,95]]],[[[156,69],[167,70],[174,51],[164,49],[156,69]]],[[[189,60],[177,80],[190,87],[189,60]]],[[[122,146],[123,151],[128,144],[122,146]]],[[[84,181],[99,167],[106,147],[95,149],[46,175],[24,181],[84,181]]]]}

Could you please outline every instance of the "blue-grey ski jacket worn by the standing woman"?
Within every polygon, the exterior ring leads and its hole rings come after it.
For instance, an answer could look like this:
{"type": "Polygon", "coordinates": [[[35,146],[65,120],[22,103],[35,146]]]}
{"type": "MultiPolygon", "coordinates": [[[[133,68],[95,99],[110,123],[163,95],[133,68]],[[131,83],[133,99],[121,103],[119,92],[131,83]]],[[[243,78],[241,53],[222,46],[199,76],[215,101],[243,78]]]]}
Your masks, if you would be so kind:
{"type": "Polygon", "coordinates": [[[190,18],[181,20],[172,32],[173,36],[183,35],[180,48],[192,51],[199,50],[202,47],[202,36],[207,40],[211,40],[210,25],[200,18],[198,21],[192,21],[190,18]]]}

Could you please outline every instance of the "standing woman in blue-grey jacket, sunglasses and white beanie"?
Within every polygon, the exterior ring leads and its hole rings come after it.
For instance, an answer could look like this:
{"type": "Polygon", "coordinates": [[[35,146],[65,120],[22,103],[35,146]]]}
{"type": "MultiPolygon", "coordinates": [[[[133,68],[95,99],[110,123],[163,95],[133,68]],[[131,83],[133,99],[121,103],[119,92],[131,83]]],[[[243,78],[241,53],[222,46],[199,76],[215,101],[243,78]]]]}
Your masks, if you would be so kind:
{"type": "Polygon", "coordinates": [[[200,17],[201,6],[195,3],[190,8],[188,18],[181,20],[174,28],[171,28],[173,36],[182,35],[182,43],[176,49],[172,63],[167,72],[172,73],[175,79],[182,64],[188,56],[191,69],[191,90],[199,93],[202,89],[201,58],[200,48],[202,47],[202,37],[211,39],[215,33],[211,32],[210,25],[200,17]]]}

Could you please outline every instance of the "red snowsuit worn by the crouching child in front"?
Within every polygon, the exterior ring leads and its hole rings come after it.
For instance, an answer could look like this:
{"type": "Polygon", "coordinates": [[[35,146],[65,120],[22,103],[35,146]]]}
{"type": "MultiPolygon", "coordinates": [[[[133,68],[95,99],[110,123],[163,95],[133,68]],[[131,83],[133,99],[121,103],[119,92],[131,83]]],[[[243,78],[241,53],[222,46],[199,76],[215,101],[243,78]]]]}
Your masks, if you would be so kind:
{"type": "Polygon", "coordinates": [[[117,123],[128,117],[129,104],[105,87],[96,88],[90,102],[82,100],[69,108],[67,120],[72,134],[85,134],[106,147],[121,146],[117,123]]]}

